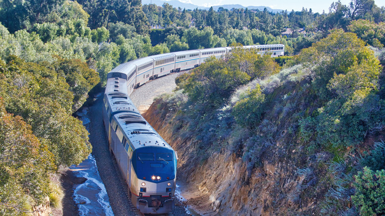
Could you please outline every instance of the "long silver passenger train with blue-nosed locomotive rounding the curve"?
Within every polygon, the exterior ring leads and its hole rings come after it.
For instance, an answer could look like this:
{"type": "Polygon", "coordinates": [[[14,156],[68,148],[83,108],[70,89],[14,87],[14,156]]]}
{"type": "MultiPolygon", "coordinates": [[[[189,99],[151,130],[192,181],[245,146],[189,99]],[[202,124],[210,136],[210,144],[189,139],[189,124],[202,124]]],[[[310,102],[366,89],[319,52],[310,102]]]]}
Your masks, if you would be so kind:
{"type": "MultiPolygon", "coordinates": [[[[284,55],[283,44],[243,46],[271,57],[284,55]]],[[[224,58],[231,47],[187,50],[140,58],[107,74],[103,124],[131,195],[143,214],[167,214],[175,205],[178,154],[142,117],[129,96],[151,79],[198,67],[209,57],[224,58]]]]}

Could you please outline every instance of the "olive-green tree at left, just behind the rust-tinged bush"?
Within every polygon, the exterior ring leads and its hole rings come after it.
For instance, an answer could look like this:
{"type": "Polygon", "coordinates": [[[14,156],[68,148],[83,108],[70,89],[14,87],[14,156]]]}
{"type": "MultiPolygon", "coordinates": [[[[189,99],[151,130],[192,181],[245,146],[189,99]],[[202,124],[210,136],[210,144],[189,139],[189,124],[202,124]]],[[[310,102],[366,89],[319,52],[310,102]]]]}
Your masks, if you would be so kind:
{"type": "Polygon", "coordinates": [[[7,60],[0,68],[0,97],[6,110],[32,126],[40,143],[53,153],[55,165],[79,164],[91,152],[91,145],[87,130],[71,115],[74,94],[64,74],[47,63],[49,68],[15,56],[7,60]]]}

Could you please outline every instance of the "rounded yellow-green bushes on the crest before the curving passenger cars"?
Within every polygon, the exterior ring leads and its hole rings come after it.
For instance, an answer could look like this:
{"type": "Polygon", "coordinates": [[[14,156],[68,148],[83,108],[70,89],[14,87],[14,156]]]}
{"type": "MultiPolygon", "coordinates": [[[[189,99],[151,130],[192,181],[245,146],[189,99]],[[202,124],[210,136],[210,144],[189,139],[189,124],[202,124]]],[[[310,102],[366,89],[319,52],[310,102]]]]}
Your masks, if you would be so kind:
{"type": "Polygon", "coordinates": [[[256,50],[238,46],[226,59],[212,57],[190,74],[178,77],[176,83],[192,101],[217,108],[239,85],[274,74],[278,68],[268,55],[260,56],[256,50]]]}

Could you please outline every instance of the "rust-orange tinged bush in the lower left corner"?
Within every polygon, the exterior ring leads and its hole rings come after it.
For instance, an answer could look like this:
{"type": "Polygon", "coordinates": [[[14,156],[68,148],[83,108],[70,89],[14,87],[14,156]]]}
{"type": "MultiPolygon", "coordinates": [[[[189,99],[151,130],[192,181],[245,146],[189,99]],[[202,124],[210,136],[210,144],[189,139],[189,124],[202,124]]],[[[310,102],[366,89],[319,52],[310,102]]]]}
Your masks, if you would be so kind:
{"type": "Polygon", "coordinates": [[[26,209],[27,203],[44,204],[50,192],[49,175],[56,169],[53,154],[20,116],[7,113],[2,98],[0,131],[0,214],[32,213],[33,209],[26,209]]]}

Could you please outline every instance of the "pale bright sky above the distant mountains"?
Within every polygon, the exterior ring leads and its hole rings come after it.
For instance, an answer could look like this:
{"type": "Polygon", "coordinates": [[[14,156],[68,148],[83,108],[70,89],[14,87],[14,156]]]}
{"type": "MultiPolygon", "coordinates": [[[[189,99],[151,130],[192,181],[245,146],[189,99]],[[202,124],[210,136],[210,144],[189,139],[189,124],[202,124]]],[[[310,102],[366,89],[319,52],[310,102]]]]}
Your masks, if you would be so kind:
{"type": "MultiPolygon", "coordinates": [[[[301,11],[302,7],[308,8],[313,13],[329,12],[329,7],[334,1],[338,0],[179,0],[185,3],[192,3],[198,6],[214,6],[223,4],[241,4],[243,6],[268,6],[272,9],[282,9],[291,11],[301,11]]],[[[350,0],[341,0],[345,5],[350,3],[350,0]]],[[[385,0],[375,0],[377,6],[385,6],[385,0]]]]}

